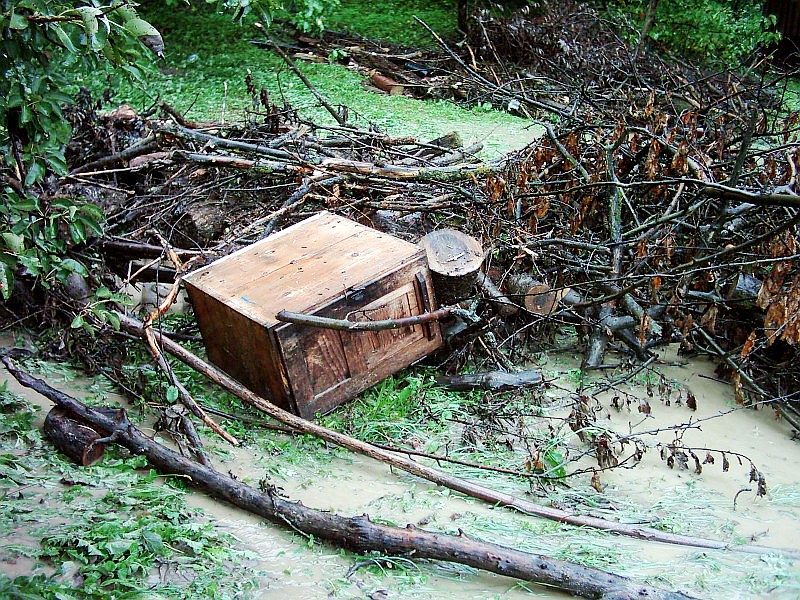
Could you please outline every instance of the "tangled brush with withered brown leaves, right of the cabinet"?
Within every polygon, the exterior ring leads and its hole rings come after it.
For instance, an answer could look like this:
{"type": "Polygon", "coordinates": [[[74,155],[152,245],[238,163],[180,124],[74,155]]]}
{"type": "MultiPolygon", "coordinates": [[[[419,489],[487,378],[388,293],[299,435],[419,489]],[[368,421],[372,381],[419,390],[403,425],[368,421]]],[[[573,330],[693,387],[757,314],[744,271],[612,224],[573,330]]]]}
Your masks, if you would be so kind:
{"type": "MultiPolygon", "coordinates": [[[[477,11],[471,24],[468,41],[507,77],[495,92],[516,88],[559,117],[486,179],[505,210],[495,231],[513,232],[503,275],[530,260],[553,289],[578,292],[587,366],[601,366],[609,337],[639,361],[679,341],[719,357],[741,402],[775,402],[797,428],[800,154],[798,115],[781,110],[788,74],[763,60],[711,71],[632,47],[585,3],[477,11]]],[[[488,77],[465,75],[475,87],[488,77]]]]}

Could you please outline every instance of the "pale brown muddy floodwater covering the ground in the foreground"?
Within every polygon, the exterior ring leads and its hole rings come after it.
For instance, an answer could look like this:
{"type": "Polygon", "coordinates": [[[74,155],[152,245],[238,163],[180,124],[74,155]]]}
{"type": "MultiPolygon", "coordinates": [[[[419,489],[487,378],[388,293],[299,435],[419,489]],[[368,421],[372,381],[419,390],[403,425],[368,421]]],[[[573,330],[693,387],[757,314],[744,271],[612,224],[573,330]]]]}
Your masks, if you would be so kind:
{"type": "MultiPolygon", "coordinates": [[[[769,494],[757,498],[753,492],[734,497],[749,484],[749,465],[731,466],[722,472],[721,457],[715,464],[703,465],[703,472],[668,468],[659,458],[656,444],[668,443],[674,433],[642,435],[648,446],[642,464],[634,469],[603,473],[603,494],[592,492],[586,481],[571,481],[554,500],[567,502],[582,497],[589,502],[582,510],[597,516],[626,522],[647,522],[679,533],[726,541],[750,542],[800,550],[800,477],[794,465],[798,444],[790,439],[785,423],[776,421],[770,410],[741,410],[708,419],[734,406],[728,385],[714,380],[713,365],[693,360],[677,366],[677,358],[665,356],[659,370],[675,389],[688,389],[697,398],[697,410],[685,403],[670,405],[659,399],[658,391],[648,398],[651,415],[636,409],[636,398],[647,397],[646,386],[634,382],[624,391],[632,394],[631,409],[610,408],[610,397],[602,402],[598,425],[619,432],[640,435],[671,425],[702,420],[698,429],[683,435],[685,444],[740,452],[752,459],[767,480],[769,494]]],[[[542,368],[548,376],[559,376],[560,388],[548,392],[558,414],[570,396],[574,381],[566,376],[574,361],[551,357],[542,368]]],[[[5,379],[0,374],[0,380],[5,379]]],[[[69,393],[82,395],[83,382],[52,382],[69,393]]],[[[16,386],[10,387],[42,404],[40,398],[16,386]]],[[[657,387],[657,386],[656,386],[657,387]]],[[[577,440],[568,440],[579,448],[577,440]]],[[[698,451],[701,459],[704,451],[698,451]]],[[[216,458],[216,467],[230,470],[237,477],[257,483],[269,472],[270,483],[280,486],[291,498],[308,506],[345,515],[369,514],[374,520],[398,525],[456,533],[459,529],[472,537],[485,539],[531,552],[562,558],[577,558],[609,570],[647,580],[668,588],[680,588],[703,598],[798,598],[800,567],[779,554],[738,555],[719,551],[667,546],[621,538],[600,532],[567,528],[552,522],[492,509],[477,501],[451,494],[447,490],[392,471],[370,459],[343,452],[332,458],[300,461],[276,471],[271,456],[250,448],[225,452],[216,458]],[[280,476],[275,475],[281,473],[280,476]]],[[[590,464],[589,462],[586,463],[590,464]]],[[[506,491],[524,494],[513,482],[491,479],[506,491]]],[[[566,598],[564,594],[542,589],[525,589],[516,581],[471,569],[414,564],[403,557],[378,567],[359,568],[346,578],[348,570],[362,558],[337,549],[311,543],[301,535],[287,532],[243,511],[216,502],[202,494],[189,494],[189,502],[202,508],[209,520],[232,534],[242,548],[253,553],[252,568],[259,575],[257,598],[566,598]]],[[[545,501],[542,499],[542,501],[545,501]]],[[[13,569],[20,574],[25,565],[13,569]]]]}

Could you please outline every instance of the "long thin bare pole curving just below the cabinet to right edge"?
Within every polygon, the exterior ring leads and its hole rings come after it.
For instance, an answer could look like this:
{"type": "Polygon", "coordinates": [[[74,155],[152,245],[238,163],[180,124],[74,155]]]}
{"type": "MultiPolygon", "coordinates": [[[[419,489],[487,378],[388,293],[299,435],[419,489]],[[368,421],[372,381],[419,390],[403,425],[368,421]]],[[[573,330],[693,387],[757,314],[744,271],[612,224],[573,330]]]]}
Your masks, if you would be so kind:
{"type": "MultiPolygon", "coordinates": [[[[124,331],[139,337],[144,336],[144,326],[141,322],[123,313],[117,313],[117,315],[120,318],[120,326],[124,331]]],[[[151,329],[151,331],[153,330],[151,329]]],[[[261,398],[226,373],[208,364],[162,333],[153,331],[153,335],[157,336],[158,341],[164,350],[172,354],[185,365],[191,367],[198,373],[205,375],[209,380],[231,392],[249,406],[252,406],[253,408],[269,415],[276,421],[283,423],[284,425],[288,425],[289,427],[302,433],[313,435],[331,444],[341,446],[342,448],[346,448],[352,452],[356,452],[364,456],[368,456],[392,467],[406,471],[407,473],[411,473],[412,475],[426,479],[437,485],[441,485],[466,496],[482,500],[493,506],[503,506],[517,510],[524,514],[543,517],[545,519],[552,519],[568,525],[575,525],[577,527],[594,527],[596,529],[610,531],[619,535],[625,535],[654,542],[676,544],[680,546],[692,546],[696,548],[735,550],[737,552],[744,552],[748,554],[780,552],[792,558],[800,558],[800,552],[795,552],[793,550],[771,548],[769,546],[760,546],[755,544],[733,546],[719,540],[710,540],[694,536],[669,533],[643,525],[616,523],[614,521],[592,517],[589,515],[577,515],[558,508],[541,506],[529,500],[518,498],[511,494],[506,494],[481,484],[449,475],[448,473],[444,473],[438,469],[418,463],[393,452],[381,450],[372,444],[352,438],[337,431],[333,431],[287,412],[272,404],[268,400],[261,398]]]]}

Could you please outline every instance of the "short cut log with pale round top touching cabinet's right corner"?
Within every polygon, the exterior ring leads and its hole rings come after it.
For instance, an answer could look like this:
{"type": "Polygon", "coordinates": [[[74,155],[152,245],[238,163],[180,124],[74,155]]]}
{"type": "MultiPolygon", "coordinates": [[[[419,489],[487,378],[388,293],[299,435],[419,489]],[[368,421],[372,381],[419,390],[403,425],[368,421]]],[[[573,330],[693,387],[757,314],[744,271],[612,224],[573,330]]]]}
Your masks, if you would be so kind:
{"type": "Polygon", "coordinates": [[[420,244],[428,255],[439,304],[457,304],[469,298],[483,263],[481,243],[455,229],[440,229],[426,235],[420,244]]]}

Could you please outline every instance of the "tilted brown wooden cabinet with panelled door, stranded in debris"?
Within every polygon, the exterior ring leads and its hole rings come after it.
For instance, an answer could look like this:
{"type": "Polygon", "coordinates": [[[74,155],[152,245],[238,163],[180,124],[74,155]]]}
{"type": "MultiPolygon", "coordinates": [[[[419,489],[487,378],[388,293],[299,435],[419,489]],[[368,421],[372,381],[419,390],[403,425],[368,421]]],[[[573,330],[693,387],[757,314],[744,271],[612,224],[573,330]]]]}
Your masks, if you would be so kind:
{"type": "Polygon", "coordinates": [[[425,251],[320,213],[184,278],[209,359],[300,416],[328,412],[441,345],[438,323],[347,332],[281,323],[281,310],[350,320],[434,310],[425,251]]]}

